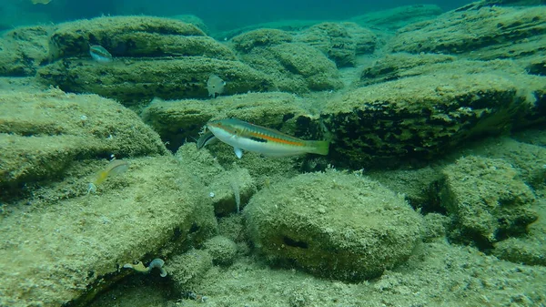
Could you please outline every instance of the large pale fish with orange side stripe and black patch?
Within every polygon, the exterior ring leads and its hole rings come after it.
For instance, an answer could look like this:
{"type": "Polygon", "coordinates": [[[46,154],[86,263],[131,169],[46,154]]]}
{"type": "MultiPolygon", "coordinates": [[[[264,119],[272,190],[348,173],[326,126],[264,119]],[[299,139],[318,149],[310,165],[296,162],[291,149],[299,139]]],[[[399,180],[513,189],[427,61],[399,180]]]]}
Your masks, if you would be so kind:
{"type": "Polygon", "coordinates": [[[329,141],[294,138],[235,118],[210,121],[207,128],[216,138],[233,146],[239,159],[243,157],[243,149],[266,157],[289,157],[306,153],[328,155],[329,151],[329,141]]]}

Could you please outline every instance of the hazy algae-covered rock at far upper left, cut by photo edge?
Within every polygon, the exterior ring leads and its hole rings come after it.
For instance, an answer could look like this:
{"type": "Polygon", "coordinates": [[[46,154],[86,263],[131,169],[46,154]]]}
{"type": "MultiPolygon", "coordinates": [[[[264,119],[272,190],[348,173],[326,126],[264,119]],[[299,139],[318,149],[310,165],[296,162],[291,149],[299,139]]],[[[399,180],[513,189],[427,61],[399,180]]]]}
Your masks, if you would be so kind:
{"type": "Polygon", "coordinates": [[[52,27],[18,27],[0,36],[0,76],[34,76],[47,59],[52,27]]]}

